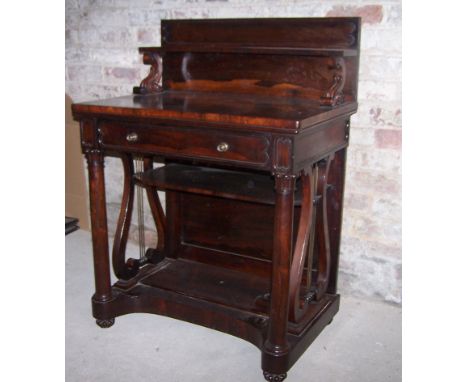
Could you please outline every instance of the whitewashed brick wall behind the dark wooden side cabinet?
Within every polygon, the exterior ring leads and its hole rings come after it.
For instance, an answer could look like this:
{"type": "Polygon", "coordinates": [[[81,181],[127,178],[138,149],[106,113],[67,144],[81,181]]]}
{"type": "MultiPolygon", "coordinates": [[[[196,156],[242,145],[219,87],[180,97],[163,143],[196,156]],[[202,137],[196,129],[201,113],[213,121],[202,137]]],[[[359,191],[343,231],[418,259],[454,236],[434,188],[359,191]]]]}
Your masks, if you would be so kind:
{"type": "MultiPolygon", "coordinates": [[[[75,102],[131,93],[147,74],[137,47],[160,44],[161,19],[308,16],[363,18],[339,287],[401,303],[400,1],[67,0],[66,92],[75,102]]],[[[106,178],[112,232],[122,193],[117,160],[106,161],[106,178]]]]}

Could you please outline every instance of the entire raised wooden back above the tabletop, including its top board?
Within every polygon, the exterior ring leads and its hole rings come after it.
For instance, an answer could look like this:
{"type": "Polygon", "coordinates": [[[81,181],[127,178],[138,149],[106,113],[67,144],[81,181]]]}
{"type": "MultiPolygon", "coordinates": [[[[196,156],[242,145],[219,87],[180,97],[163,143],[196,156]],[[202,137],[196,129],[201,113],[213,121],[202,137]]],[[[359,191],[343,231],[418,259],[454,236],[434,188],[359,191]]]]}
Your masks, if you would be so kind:
{"type": "Polygon", "coordinates": [[[163,87],[320,100],[346,67],[355,100],[359,18],[163,20],[163,87]]]}

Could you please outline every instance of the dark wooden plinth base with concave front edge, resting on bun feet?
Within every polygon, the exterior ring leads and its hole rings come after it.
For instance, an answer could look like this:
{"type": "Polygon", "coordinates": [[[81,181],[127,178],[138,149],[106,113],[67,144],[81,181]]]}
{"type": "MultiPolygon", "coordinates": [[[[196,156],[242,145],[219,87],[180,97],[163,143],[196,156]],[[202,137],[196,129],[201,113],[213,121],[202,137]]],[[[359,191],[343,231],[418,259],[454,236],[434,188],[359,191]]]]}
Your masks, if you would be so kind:
{"type": "Polygon", "coordinates": [[[212,265],[183,259],[165,259],[145,265],[138,275],[119,281],[113,299],[93,301],[93,315],[107,328],[114,317],[153,313],[202,325],[242,338],[262,352],[262,369],[268,381],[282,381],[339,307],[339,295],[325,295],[312,305],[299,323],[289,323],[289,352],[280,356],[264,347],[269,306],[259,296],[268,291],[268,280],[212,265]]]}

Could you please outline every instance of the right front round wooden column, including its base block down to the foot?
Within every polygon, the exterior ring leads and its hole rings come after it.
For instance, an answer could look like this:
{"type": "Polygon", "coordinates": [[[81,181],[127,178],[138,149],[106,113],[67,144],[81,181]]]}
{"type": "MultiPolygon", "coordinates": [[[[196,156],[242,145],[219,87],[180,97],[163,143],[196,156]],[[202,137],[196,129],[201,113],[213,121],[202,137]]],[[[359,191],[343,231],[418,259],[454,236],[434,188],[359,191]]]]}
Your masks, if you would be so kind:
{"type": "MultiPolygon", "coordinates": [[[[271,280],[270,321],[263,357],[267,375],[282,375],[287,367],[289,312],[289,274],[292,249],[295,177],[277,175],[275,178],[276,205],[271,280]],[[275,362],[274,359],[278,362],[275,362]]],[[[284,376],[285,378],[285,376],[284,376]]]]}

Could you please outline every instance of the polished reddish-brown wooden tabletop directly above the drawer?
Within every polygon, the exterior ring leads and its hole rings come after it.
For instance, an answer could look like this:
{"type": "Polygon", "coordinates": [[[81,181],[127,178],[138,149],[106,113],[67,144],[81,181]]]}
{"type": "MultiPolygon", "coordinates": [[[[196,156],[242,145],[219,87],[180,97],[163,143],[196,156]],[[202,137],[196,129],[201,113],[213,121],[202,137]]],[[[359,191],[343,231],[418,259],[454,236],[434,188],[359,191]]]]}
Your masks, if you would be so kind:
{"type": "Polygon", "coordinates": [[[75,118],[162,119],[248,125],[294,132],[357,110],[356,102],[323,107],[302,98],[250,94],[164,91],[84,102],[72,106],[75,118]]]}

